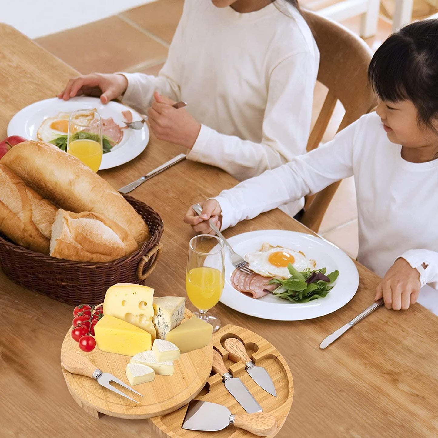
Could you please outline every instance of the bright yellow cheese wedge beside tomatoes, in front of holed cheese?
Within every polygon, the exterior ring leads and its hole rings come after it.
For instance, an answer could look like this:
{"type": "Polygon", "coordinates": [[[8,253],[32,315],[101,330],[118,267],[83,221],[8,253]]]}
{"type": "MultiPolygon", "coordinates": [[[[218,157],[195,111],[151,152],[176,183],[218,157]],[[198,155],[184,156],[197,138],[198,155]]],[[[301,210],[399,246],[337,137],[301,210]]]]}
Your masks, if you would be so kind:
{"type": "Polygon", "coordinates": [[[105,315],[94,327],[97,348],[109,353],[134,356],[139,351],[150,350],[151,334],[129,322],[105,315]]]}

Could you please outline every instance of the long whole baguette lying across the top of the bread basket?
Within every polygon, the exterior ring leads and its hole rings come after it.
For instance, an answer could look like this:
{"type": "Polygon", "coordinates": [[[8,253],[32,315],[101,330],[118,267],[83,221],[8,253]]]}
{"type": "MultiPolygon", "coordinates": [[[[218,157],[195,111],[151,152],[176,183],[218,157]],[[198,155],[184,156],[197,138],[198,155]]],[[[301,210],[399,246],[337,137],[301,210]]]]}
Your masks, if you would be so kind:
{"type": "Polygon", "coordinates": [[[25,183],[71,212],[95,212],[122,226],[139,244],[148,226],[123,196],[73,155],[42,141],[23,141],[0,160],[25,183]]]}

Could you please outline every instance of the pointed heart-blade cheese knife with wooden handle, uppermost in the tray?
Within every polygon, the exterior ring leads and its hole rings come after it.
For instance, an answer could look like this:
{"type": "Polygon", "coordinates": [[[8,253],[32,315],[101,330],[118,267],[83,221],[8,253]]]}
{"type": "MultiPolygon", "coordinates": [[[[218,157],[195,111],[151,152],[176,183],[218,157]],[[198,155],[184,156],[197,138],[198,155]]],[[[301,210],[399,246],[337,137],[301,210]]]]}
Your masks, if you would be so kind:
{"type": "Polygon", "coordinates": [[[233,360],[233,362],[238,362],[239,360],[245,364],[245,370],[251,376],[251,378],[257,383],[260,388],[269,392],[272,396],[276,397],[277,392],[275,390],[274,382],[268,371],[263,367],[256,367],[254,362],[248,356],[243,343],[236,338],[228,338],[223,343],[226,351],[228,351],[228,358],[233,360]]]}

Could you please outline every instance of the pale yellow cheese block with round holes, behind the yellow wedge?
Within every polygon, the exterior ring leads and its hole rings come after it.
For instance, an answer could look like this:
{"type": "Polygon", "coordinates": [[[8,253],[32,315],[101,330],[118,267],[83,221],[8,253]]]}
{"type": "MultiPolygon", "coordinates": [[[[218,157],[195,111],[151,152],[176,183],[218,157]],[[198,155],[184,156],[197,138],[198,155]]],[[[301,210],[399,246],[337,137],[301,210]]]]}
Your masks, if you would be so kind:
{"type": "Polygon", "coordinates": [[[103,314],[123,319],[123,321],[146,330],[151,334],[153,341],[156,338],[152,321],[154,317],[153,297],[154,290],[148,286],[117,283],[106,291],[103,314]]]}

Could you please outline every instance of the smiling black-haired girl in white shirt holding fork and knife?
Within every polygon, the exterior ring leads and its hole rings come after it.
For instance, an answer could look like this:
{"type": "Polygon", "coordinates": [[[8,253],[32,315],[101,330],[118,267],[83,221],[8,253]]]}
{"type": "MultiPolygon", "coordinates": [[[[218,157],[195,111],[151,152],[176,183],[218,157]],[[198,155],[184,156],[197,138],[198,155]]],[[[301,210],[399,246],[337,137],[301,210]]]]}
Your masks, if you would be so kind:
{"type": "Polygon", "coordinates": [[[358,260],[383,276],[375,299],[407,309],[417,301],[438,314],[438,20],[391,35],[368,75],[379,104],[336,137],[275,170],[203,203],[185,222],[225,229],[354,175],[358,260]],[[420,293],[421,288],[421,293],[420,293]]]}

